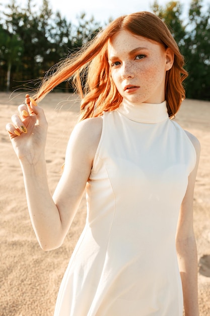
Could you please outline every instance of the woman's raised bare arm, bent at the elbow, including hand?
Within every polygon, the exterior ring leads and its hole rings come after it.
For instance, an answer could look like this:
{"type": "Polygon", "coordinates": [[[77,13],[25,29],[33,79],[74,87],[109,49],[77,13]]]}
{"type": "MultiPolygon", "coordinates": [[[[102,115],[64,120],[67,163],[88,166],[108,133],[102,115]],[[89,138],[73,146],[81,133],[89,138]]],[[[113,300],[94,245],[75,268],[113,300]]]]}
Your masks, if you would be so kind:
{"type": "MultiPolygon", "coordinates": [[[[14,116],[7,125],[13,147],[19,157],[24,175],[31,222],[42,249],[59,247],[72,224],[89,178],[93,158],[100,139],[102,119],[88,119],[79,123],[69,138],[65,167],[53,197],[46,173],[44,147],[47,122],[44,112],[33,107],[33,115],[14,116]],[[24,125],[28,132],[20,136],[15,127],[24,125]]],[[[22,104],[19,113],[27,107],[22,104]]]]}

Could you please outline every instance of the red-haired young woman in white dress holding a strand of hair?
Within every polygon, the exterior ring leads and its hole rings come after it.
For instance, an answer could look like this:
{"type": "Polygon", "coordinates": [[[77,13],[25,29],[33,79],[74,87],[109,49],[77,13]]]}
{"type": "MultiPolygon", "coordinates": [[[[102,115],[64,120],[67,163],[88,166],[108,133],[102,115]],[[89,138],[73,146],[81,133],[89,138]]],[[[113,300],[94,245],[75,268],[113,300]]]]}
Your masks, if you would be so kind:
{"type": "Polygon", "coordinates": [[[55,316],[182,316],[183,302],[185,316],[198,316],[193,190],[199,142],[171,120],[186,76],[166,25],[152,13],[130,14],[59,64],[7,125],[42,249],[62,244],[87,190],[87,224],[55,316]],[[47,122],[34,99],[74,75],[81,120],[51,197],[47,122]]]}

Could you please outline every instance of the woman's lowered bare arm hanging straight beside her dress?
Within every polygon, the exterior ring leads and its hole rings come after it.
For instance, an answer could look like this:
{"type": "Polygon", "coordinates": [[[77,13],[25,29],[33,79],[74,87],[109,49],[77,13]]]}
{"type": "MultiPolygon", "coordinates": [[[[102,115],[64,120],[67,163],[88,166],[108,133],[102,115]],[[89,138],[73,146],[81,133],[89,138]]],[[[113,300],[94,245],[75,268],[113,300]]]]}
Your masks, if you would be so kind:
{"type": "Polygon", "coordinates": [[[187,134],[195,147],[197,162],[194,170],[189,175],[188,187],[180,208],[176,248],[182,280],[185,316],[198,316],[197,249],[193,232],[193,193],[200,145],[194,136],[187,134]]]}

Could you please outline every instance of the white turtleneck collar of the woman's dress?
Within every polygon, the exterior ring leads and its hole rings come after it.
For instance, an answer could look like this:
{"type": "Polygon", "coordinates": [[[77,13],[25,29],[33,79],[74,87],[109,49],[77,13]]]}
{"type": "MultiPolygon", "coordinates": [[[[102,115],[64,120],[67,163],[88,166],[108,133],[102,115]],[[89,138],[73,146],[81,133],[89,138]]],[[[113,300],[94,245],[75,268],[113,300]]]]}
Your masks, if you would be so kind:
{"type": "Polygon", "coordinates": [[[169,118],[166,101],[158,104],[132,104],[123,99],[117,111],[129,120],[141,123],[160,123],[169,118]]]}

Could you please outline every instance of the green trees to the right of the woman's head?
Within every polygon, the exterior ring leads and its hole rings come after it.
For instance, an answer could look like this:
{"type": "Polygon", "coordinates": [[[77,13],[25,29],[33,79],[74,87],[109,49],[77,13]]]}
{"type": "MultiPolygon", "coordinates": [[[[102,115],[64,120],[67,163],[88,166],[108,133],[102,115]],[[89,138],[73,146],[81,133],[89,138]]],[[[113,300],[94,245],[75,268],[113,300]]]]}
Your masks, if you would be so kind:
{"type": "Polygon", "coordinates": [[[189,73],[185,81],[186,97],[210,100],[210,5],[202,10],[202,1],[192,0],[185,23],[179,2],[169,2],[163,8],[156,1],[152,9],[170,25],[185,57],[189,73]]]}

